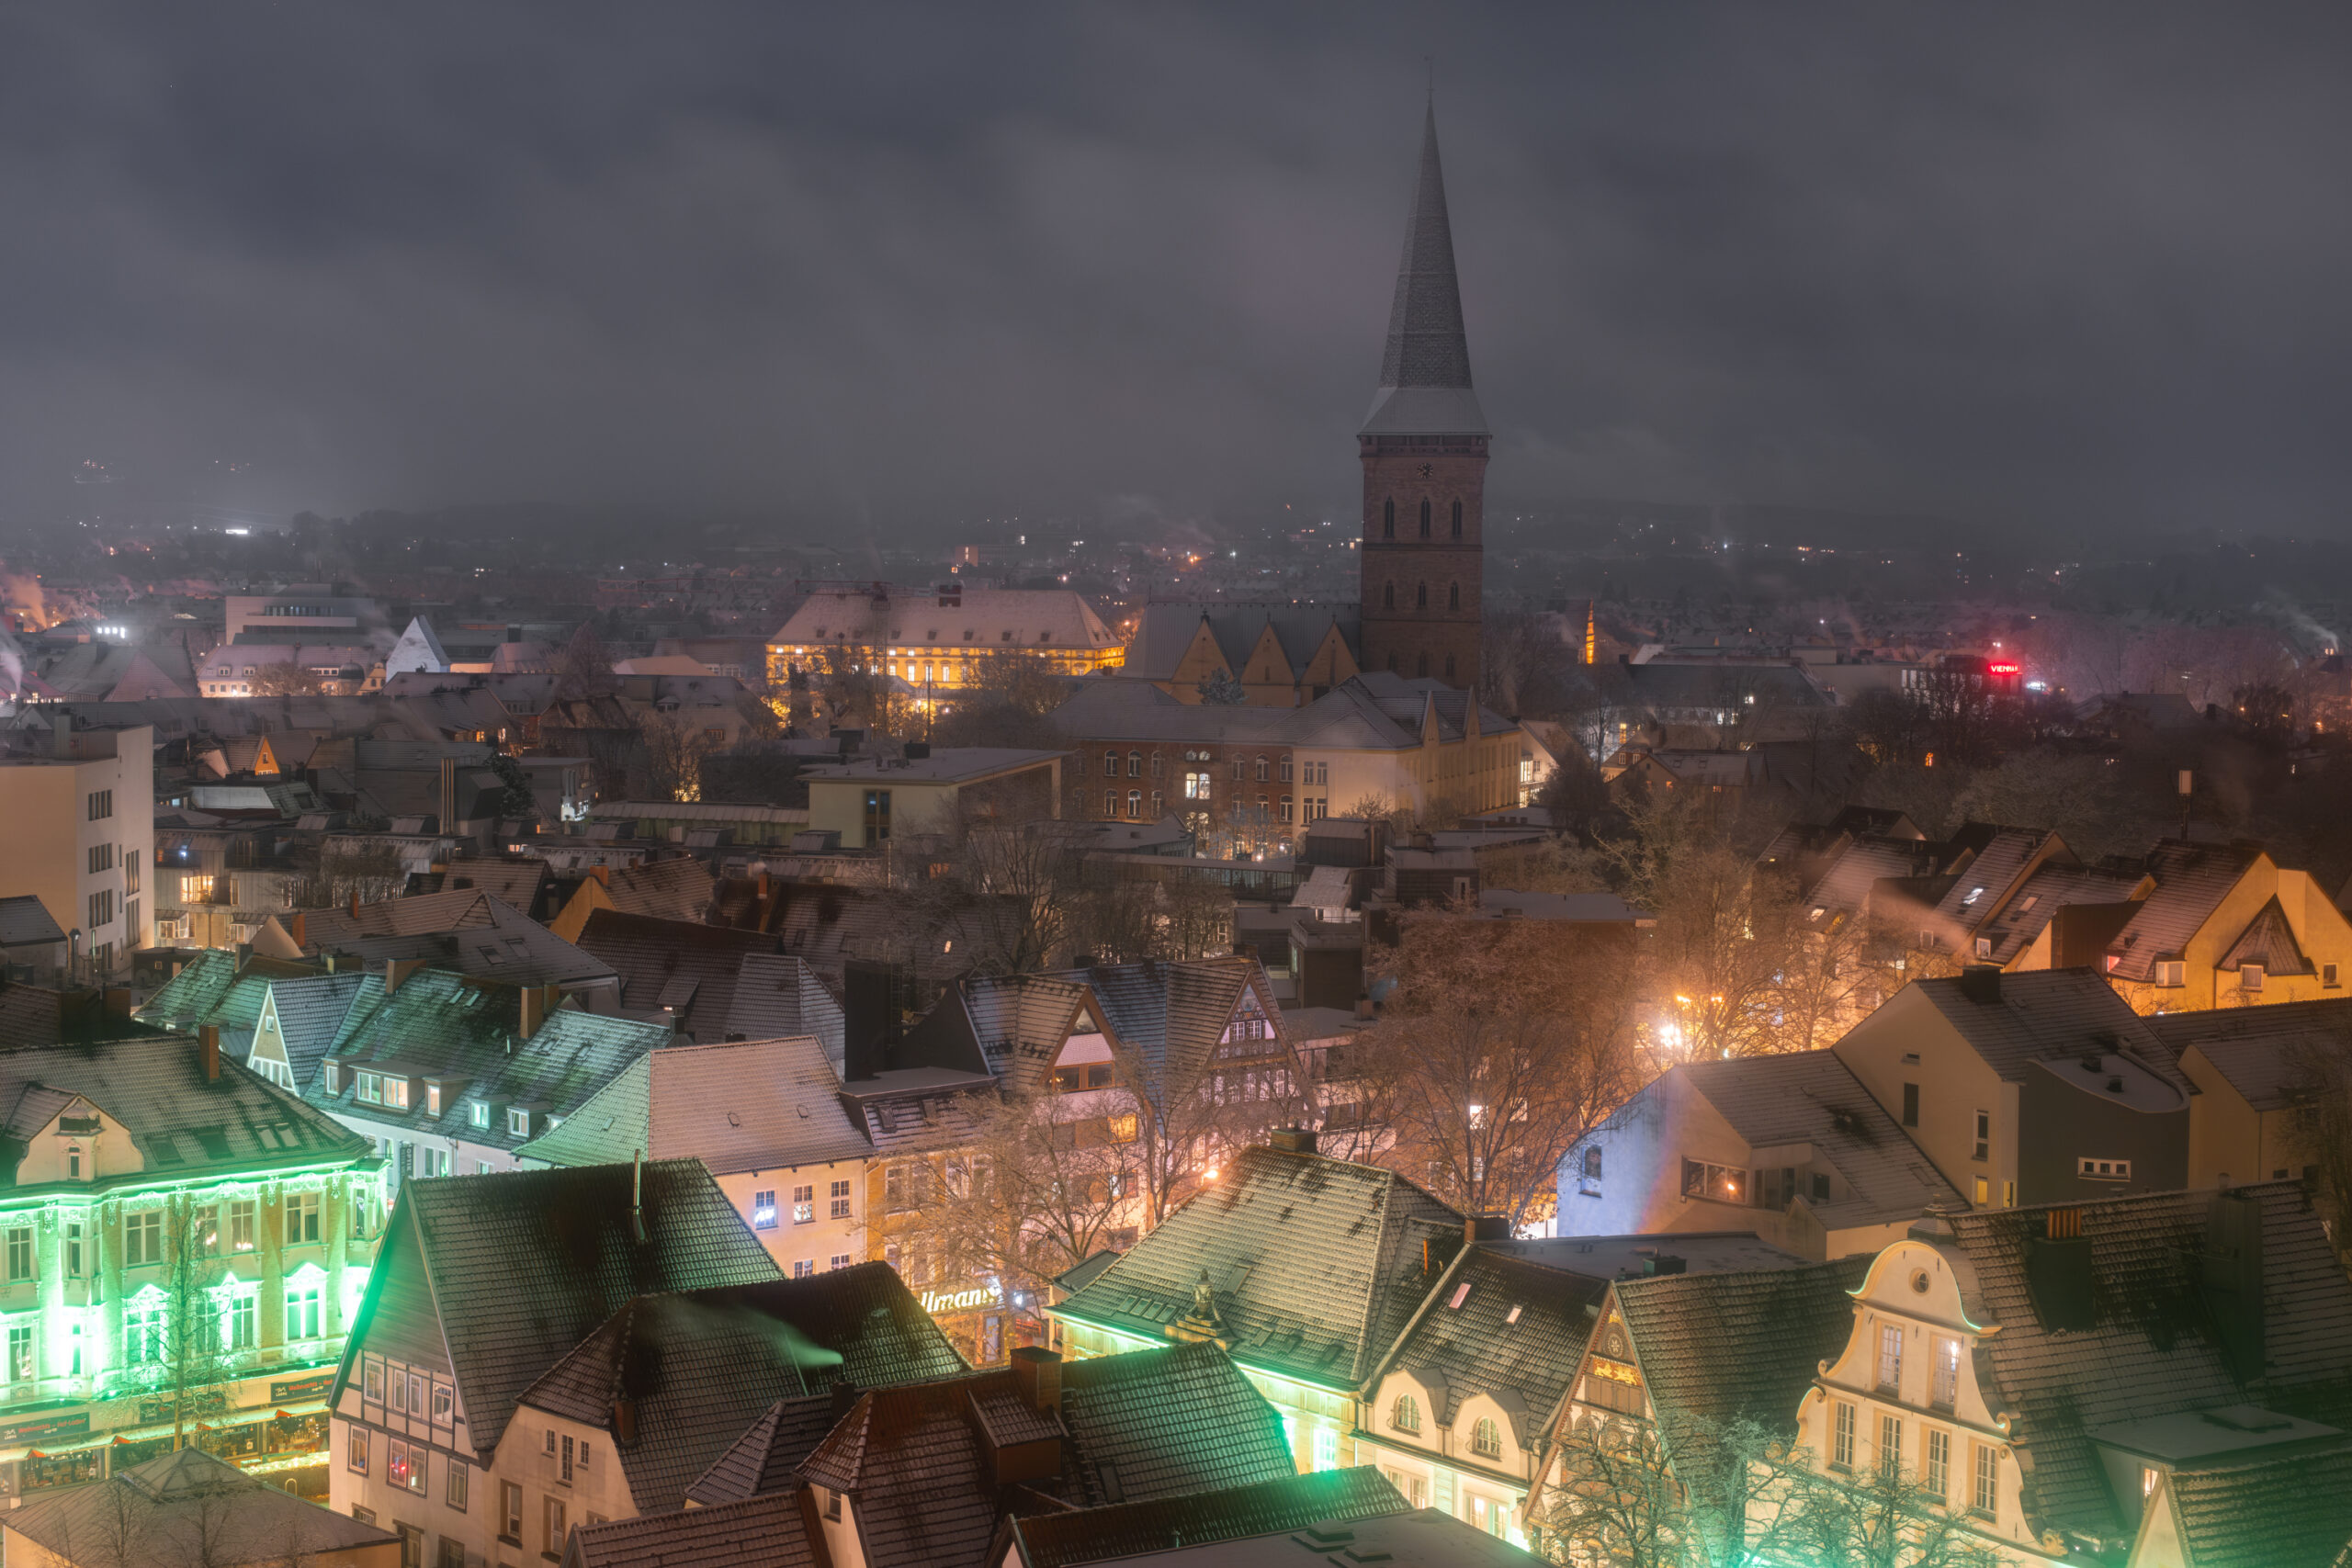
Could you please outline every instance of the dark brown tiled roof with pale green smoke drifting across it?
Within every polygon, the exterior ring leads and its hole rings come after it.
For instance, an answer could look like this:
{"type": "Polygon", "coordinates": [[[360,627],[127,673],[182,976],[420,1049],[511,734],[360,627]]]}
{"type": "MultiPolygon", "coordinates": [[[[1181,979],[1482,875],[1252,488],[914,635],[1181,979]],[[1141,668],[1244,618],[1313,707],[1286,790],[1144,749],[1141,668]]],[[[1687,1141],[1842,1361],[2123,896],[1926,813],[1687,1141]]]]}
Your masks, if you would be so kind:
{"type": "Polygon", "coordinates": [[[517,1396],[517,1406],[637,1436],[616,1443],[642,1512],[684,1507],[687,1488],[776,1401],[835,1382],[896,1387],[962,1375],[964,1359],[887,1262],[809,1279],[640,1295],[517,1396]]]}

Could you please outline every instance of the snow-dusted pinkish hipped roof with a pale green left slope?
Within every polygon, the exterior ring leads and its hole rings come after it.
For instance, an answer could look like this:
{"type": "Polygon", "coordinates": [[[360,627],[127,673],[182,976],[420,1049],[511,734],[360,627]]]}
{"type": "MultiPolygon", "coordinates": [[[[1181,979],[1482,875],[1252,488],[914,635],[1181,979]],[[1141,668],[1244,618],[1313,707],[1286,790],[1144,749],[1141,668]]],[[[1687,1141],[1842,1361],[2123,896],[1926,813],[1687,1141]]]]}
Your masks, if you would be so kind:
{"type": "Polygon", "coordinates": [[[816,1039],[668,1046],[623,1067],[553,1133],[515,1150],[550,1166],[597,1166],[644,1152],[701,1159],[715,1173],[774,1171],[873,1152],[816,1039]]]}

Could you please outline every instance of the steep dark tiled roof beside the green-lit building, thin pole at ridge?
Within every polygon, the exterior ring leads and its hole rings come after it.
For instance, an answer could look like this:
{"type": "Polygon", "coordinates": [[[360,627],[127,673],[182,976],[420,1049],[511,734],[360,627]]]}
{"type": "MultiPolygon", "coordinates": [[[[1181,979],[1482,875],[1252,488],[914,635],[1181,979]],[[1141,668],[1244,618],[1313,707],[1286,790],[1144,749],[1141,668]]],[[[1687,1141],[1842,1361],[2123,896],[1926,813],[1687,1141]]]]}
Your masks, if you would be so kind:
{"type": "Polygon", "coordinates": [[[583,1166],[402,1182],[388,1232],[407,1229],[414,1251],[386,1237],[334,1399],[395,1267],[426,1274],[468,1436],[485,1458],[522,1392],[630,1298],[779,1279],[776,1260],[696,1159],[644,1164],[637,1241],[637,1178],[633,1166],[583,1166]]]}

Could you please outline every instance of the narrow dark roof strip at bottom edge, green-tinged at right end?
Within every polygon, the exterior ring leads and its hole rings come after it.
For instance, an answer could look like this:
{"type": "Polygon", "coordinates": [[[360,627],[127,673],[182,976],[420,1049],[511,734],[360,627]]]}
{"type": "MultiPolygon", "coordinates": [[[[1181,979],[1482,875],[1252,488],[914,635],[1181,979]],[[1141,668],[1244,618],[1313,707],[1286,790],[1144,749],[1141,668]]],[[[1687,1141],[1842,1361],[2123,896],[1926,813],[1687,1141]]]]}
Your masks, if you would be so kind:
{"type": "MultiPolygon", "coordinates": [[[[1247,1535],[1303,1530],[1312,1523],[1376,1519],[1406,1509],[1397,1488],[1371,1465],[1277,1476],[1188,1497],[1115,1502],[1068,1514],[1030,1514],[1004,1526],[1004,1544],[1023,1568],[1070,1568],[1164,1552],[1211,1547],[1247,1535]]],[[[990,1561],[1002,1561],[990,1554],[990,1561]]],[[[1301,1559],[1301,1568],[1327,1559],[1301,1559]]]]}

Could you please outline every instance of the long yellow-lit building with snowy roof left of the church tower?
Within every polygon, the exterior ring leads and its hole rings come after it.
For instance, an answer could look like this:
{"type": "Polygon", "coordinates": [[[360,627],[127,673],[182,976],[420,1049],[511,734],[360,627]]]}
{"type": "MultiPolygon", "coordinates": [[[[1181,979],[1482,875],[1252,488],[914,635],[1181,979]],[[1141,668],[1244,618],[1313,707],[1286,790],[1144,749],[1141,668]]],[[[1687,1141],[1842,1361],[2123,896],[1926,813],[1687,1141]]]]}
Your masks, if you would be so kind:
{"type": "Polygon", "coordinates": [[[767,679],[781,691],[795,670],[880,665],[922,693],[950,693],[985,684],[1004,656],[1035,658],[1054,675],[1094,675],[1124,665],[1127,646],[1065,588],[818,583],[769,637],[767,679]]]}

